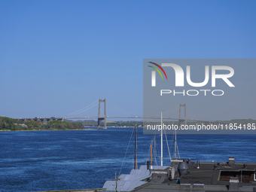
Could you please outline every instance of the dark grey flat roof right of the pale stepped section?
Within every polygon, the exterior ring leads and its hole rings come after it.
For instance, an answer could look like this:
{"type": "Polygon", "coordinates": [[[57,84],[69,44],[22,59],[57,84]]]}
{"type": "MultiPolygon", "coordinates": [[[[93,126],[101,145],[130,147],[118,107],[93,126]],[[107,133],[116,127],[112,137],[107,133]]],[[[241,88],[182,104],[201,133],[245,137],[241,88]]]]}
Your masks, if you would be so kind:
{"type": "Polygon", "coordinates": [[[175,169],[179,163],[173,161],[166,172],[154,171],[150,181],[136,187],[133,192],[256,191],[256,163],[236,163],[234,158],[229,158],[228,162],[200,162],[198,166],[197,162],[190,161],[187,173],[175,169]],[[170,174],[172,168],[174,178],[170,174]]]}

